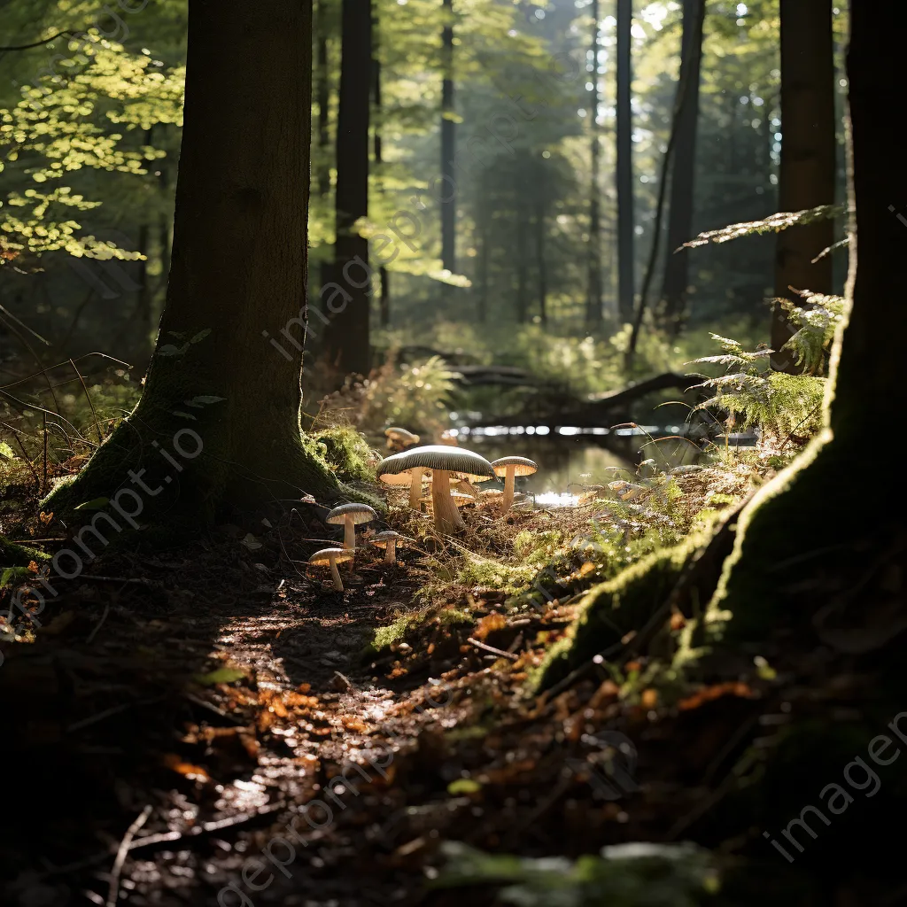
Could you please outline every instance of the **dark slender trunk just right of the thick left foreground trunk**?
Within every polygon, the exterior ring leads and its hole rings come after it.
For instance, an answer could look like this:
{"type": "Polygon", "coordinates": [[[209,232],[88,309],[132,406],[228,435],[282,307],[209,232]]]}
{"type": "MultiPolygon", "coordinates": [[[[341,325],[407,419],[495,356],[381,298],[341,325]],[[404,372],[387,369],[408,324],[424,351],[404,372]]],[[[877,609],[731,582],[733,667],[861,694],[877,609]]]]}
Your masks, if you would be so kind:
{"type": "MultiPolygon", "coordinates": [[[[327,328],[327,359],[339,375],[367,375],[372,287],[367,279],[368,241],[356,221],[368,216],[368,124],[370,119],[372,13],[369,0],[343,0],[340,104],[336,141],[336,242],[333,279],[341,288],[327,328]],[[366,76],[363,78],[363,76],[366,76]]],[[[323,296],[327,294],[323,292],[323,296]]],[[[330,304],[328,303],[328,308],[330,304]]]]}

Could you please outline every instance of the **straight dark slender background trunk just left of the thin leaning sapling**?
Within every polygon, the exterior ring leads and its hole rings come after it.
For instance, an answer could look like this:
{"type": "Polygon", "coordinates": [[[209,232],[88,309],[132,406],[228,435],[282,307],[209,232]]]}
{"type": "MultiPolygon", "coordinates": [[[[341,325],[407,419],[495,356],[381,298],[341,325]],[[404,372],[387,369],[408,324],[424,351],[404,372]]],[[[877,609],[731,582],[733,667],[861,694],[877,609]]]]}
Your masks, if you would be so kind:
{"type": "Polygon", "coordinates": [[[630,110],[633,0],[617,0],[617,13],[618,309],[620,320],[627,324],[633,320],[636,268],[633,251],[633,121],[630,110]]]}

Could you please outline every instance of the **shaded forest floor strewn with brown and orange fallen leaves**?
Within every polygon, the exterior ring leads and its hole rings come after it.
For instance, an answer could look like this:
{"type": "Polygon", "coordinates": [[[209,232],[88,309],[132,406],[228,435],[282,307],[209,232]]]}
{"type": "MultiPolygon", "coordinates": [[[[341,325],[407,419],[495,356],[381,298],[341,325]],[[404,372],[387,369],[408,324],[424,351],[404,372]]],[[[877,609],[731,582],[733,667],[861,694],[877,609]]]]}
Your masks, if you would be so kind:
{"type": "MultiPolygon", "coordinates": [[[[252,547],[247,528],[95,561],[59,584],[33,641],[5,649],[3,904],[444,907],[463,900],[438,887],[451,842],[751,854],[760,830],[723,810],[741,759],[792,711],[846,709],[871,682],[782,639],[762,649],[771,669],[724,652],[671,701],[647,685],[647,653],[536,696],[527,681],[594,570],[563,602],[514,608],[450,582],[426,606],[423,552],[386,566],[364,549],[341,594],[288,559],[323,534],[314,520],[252,547]],[[605,770],[615,735],[635,750],[629,782],[605,770]]],[[[760,896],[790,895],[787,865],[761,851],[760,896]]]]}

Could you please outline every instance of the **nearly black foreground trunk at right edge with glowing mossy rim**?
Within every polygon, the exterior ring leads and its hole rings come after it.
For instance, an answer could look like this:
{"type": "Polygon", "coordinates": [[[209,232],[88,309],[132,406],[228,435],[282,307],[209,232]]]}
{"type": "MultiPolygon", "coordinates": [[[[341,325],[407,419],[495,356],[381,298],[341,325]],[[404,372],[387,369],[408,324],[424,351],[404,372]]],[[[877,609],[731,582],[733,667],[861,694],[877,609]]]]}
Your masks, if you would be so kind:
{"type": "Polygon", "coordinates": [[[907,178],[901,126],[891,114],[902,93],[891,61],[901,52],[907,11],[892,15],[896,21],[851,6],[852,307],[835,346],[824,432],[747,508],[725,565],[714,604],[732,611],[730,630],[741,637],[775,620],[805,625],[818,607],[832,606],[828,617],[839,626],[875,623],[882,639],[884,625],[895,623],[884,614],[904,604],[897,565],[907,495],[899,471],[880,469],[877,449],[907,405],[907,226],[897,217],[907,213],[907,178]]]}

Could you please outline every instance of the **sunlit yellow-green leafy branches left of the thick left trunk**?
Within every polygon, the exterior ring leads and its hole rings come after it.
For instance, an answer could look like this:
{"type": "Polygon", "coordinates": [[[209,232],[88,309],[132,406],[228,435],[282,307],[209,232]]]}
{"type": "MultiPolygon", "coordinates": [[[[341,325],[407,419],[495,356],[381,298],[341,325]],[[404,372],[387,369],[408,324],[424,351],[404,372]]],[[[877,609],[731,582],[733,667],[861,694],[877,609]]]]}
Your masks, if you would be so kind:
{"type": "Polygon", "coordinates": [[[161,72],[149,55],[130,54],[96,30],[60,44],[72,55],[54,55],[52,67],[22,86],[21,101],[0,109],[0,171],[8,180],[0,200],[0,266],[57,249],[79,258],[141,258],[79,237],[79,214],[101,202],[54,183],[78,171],[143,176],[163,151],[142,133],[155,123],[181,124],[184,68],[161,72]]]}

